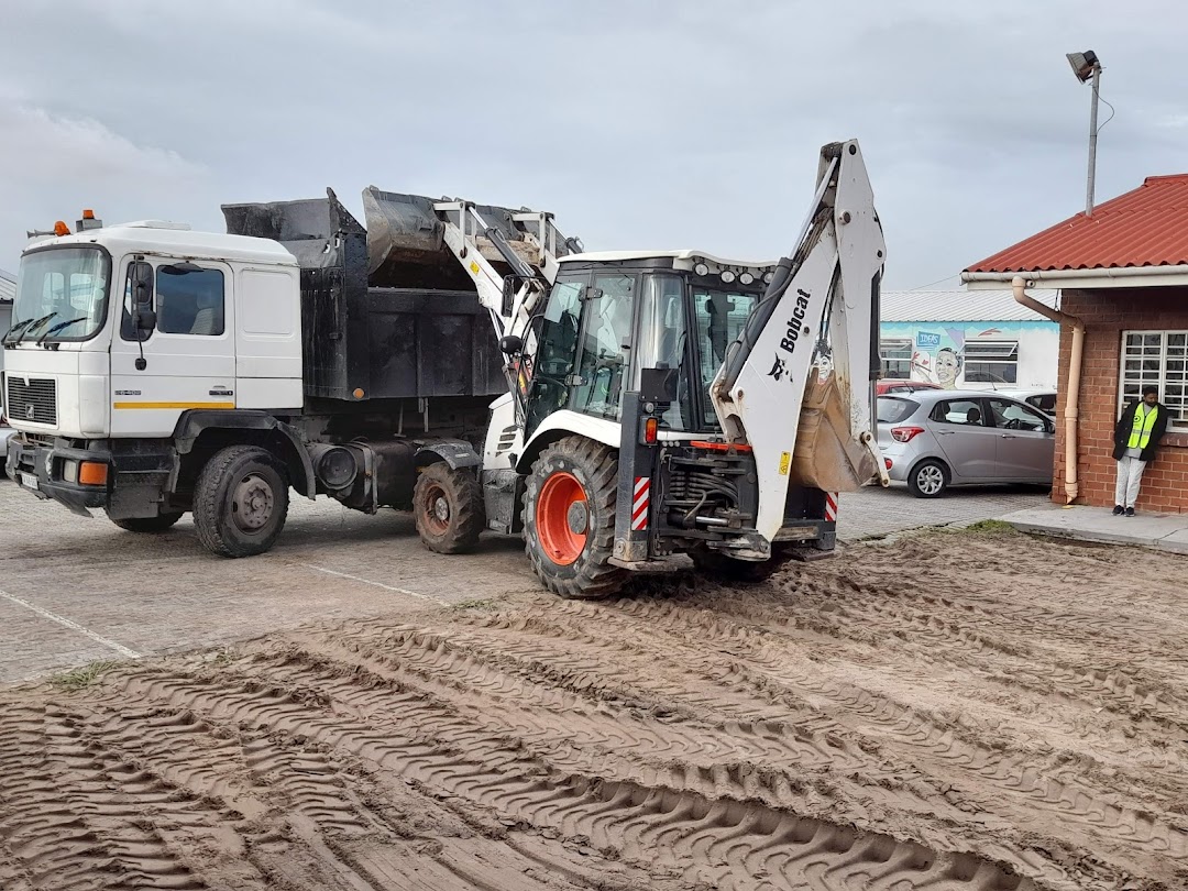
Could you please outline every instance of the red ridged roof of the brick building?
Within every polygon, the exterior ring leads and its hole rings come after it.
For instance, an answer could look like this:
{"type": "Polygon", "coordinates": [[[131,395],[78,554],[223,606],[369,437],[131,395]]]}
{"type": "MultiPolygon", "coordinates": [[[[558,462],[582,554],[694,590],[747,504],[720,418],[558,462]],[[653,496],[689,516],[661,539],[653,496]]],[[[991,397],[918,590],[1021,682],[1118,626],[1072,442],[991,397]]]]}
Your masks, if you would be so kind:
{"type": "Polygon", "coordinates": [[[1188,265],[1188,173],[1143,184],[1024,239],[966,272],[1188,265]]]}

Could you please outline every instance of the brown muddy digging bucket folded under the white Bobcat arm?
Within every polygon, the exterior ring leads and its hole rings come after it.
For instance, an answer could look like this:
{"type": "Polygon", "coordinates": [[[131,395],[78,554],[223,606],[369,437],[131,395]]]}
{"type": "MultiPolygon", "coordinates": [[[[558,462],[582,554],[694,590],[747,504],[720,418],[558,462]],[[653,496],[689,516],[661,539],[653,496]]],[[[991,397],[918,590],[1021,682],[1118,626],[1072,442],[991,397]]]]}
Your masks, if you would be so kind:
{"type": "MultiPolygon", "coordinates": [[[[824,492],[857,492],[877,473],[874,456],[852,432],[851,394],[836,374],[809,375],[792,454],[792,481],[824,492]]],[[[846,387],[848,390],[848,386],[846,387]]]]}

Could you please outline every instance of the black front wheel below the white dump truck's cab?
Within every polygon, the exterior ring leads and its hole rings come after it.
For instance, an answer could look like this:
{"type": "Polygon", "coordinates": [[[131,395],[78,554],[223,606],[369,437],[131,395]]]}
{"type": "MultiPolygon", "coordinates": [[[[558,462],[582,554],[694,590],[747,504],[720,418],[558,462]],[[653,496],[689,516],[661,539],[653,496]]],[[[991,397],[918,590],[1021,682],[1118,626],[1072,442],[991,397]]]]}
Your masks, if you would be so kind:
{"type": "Polygon", "coordinates": [[[221,557],[268,550],[289,514],[285,467],[266,449],[232,446],[207,461],[194,487],[198,541],[221,557]]]}

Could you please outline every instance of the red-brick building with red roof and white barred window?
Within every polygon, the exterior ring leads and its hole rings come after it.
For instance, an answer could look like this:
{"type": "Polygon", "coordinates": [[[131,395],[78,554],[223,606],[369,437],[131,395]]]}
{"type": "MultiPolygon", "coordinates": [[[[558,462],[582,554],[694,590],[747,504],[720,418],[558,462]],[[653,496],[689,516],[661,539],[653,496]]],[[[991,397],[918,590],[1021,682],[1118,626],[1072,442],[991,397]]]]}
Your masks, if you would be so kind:
{"type": "Polygon", "coordinates": [[[1155,384],[1171,419],[1137,506],[1188,513],[1188,175],[1148,177],[1092,216],[1078,214],[962,273],[971,289],[999,289],[1016,277],[1044,303],[1059,290],[1066,315],[1053,500],[1113,505],[1114,422],[1155,384]],[[1069,406],[1076,320],[1085,327],[1080,398],[1069,406]],[[1069,409],[1078,415],[1075,485],[1066,472],[1069,409]]]}

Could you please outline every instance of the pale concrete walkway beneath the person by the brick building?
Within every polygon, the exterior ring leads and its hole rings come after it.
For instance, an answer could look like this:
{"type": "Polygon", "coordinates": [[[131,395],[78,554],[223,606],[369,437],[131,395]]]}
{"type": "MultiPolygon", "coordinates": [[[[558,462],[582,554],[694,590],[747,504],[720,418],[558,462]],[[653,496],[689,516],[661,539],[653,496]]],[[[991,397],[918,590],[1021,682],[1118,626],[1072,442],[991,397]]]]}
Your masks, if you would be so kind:
{"type": "Polygon", "coordinates": [[[1186,514],[1140,513],[1137,517],[1116,517],[1104,507],[1045,505],[1006,513],[998,519],[1010,523],[1020,532],[1188,554],[1186,514]]]}

